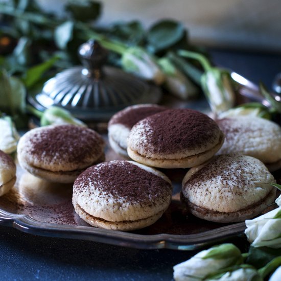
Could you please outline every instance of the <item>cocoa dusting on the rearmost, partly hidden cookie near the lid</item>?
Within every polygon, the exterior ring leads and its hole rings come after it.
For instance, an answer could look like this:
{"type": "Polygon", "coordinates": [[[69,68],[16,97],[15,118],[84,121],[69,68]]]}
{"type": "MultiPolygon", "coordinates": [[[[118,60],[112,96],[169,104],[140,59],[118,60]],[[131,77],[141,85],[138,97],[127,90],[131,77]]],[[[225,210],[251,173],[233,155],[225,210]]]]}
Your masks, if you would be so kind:
{"type": "Polygon", "coordinates": [[[167,109],[167,107],[157,105],[131,107],[115,114],[108,125],[122,124],[131,129],[139,120],[167,109]]]}

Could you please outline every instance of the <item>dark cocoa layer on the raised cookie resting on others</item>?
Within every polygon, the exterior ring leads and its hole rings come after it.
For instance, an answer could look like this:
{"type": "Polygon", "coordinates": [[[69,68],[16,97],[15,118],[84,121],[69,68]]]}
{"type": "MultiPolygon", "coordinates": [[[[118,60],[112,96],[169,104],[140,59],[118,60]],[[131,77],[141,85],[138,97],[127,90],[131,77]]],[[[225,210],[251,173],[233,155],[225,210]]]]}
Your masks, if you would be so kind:
{"type": "MultiPolygon", "coordinates": [[[[142,122],[142,121],[140,121],[142,122]]],[[[144,126],[151,128],[146,147],[153,153],[173,153],[202,149],[218,137],[219,127],[207,115],[191,109],[170,109],[149,116],[144,126]]]]}

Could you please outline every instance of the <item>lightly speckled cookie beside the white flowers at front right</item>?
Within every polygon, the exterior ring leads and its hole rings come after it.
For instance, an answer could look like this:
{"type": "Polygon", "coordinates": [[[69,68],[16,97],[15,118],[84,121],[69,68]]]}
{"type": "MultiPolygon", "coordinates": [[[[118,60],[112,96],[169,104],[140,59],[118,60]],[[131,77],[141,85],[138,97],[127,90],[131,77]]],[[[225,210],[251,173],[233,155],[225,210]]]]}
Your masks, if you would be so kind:
{"type": "Polygon", "coordinates": [[[182,181],[181,200],[193,215],[213,222],[240,222],[259,215],[275,200],[275,182],[259,159],[218,155],[191,168],[182,181]]]}

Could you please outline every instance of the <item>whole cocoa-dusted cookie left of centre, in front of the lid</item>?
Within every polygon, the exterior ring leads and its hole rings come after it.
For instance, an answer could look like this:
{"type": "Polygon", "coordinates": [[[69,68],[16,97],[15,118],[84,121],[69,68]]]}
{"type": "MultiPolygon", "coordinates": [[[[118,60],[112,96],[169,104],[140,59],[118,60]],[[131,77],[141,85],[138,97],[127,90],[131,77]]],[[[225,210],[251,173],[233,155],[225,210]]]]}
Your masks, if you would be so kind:
{"type": "Polygon", "coordinates": [[[34,176],[71,183],[86,168],[104,160],[105,142],[94,130],[75,125],[32,129],[18,143],[19,164],[34,176]]]}

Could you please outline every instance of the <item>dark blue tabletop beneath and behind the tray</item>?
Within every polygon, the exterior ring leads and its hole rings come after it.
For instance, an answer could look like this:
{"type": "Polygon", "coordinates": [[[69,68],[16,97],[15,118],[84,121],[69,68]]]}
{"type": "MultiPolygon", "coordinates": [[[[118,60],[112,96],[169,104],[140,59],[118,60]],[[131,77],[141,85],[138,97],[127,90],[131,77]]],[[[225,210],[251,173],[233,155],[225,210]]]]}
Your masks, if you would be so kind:
{"type": "MultiPolygon", "coordinates": [[[[218,65],[269,88],[281,72],[278,54],[214,49],[210,53],[218,65]]],[[[243,248],[245,241],[230,242],[243,248]]],[[[0,280],[172,280],[173,266],[193,254],[40,237],[0,226],[0,280]]]]}

